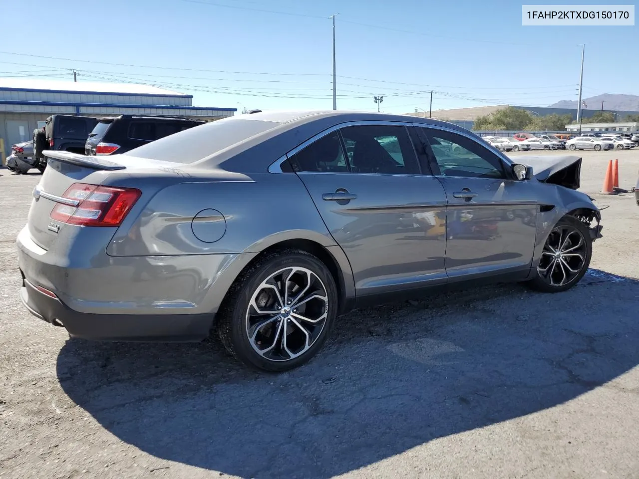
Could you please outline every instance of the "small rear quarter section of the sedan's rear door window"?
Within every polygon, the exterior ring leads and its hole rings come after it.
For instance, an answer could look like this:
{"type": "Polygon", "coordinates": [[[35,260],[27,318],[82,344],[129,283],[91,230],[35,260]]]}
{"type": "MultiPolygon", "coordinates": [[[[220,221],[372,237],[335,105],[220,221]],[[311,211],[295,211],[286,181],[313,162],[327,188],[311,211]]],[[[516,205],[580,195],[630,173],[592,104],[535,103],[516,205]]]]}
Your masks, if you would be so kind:
{"type": "Polygon", "coordinates": [[[339,133],[329,133],[289,158],[297,171],[348,172],[339,133]]]}

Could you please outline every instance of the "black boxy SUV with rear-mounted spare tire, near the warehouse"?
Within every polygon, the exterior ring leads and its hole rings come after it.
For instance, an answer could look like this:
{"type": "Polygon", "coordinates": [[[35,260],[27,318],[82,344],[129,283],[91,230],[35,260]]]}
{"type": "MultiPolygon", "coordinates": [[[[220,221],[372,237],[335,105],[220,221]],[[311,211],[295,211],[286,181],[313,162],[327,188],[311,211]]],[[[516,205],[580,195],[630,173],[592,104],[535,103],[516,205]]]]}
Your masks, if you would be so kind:
{"type": "Polygon", "coordinates": [[[42,151],[57,149],[84,153],[84,143],[97,118],[75,115],[51,115],[43,128],[33,130],[33,156],[44,160],[42,151]]]}

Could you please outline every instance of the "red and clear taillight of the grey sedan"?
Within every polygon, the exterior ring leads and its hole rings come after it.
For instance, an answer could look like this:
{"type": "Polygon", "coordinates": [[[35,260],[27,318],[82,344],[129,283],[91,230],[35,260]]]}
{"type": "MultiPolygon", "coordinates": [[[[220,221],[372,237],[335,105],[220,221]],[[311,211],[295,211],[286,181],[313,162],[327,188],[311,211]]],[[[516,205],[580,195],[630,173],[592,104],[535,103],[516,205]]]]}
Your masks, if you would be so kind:
{"type": "Polygon", "coordinates": [[[56,204],[51,218],[70,225],[119,226],[141,194],[137,188],[73,183],[63,198],[78,204],[56,204]]]}

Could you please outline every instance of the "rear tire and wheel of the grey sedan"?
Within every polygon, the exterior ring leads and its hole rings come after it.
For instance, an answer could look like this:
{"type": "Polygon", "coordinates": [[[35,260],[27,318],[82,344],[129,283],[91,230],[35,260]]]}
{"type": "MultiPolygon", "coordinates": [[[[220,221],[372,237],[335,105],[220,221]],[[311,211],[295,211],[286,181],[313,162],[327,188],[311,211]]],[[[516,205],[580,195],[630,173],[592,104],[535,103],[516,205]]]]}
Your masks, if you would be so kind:
{"type": "Polygon", "coordinates": [[[335,280],[323,262],[301,250],[277,251],[249,266],[231,286],[218,312],[217,333],[227,351],[250,367],[286,371],[309,361],[321,349],[337,307],[335,280]],[[291,271],[295,273],[289,275],[291,271]],[[299,298],[299,313],[294,302],[277,304],[279,298],[286,301],[281,287],[284,275],[289,278],[286,285],[291,296],[304,293],[306,284],[309,291],[316,291],[310,300],[306,293],[299,298]],[[278,284],[279,296],[275,290],[278,284]],[[258,307],[270,313],[259,315],[258,307]],[[283,338],[288,339],[286,345],[283,338]]]}

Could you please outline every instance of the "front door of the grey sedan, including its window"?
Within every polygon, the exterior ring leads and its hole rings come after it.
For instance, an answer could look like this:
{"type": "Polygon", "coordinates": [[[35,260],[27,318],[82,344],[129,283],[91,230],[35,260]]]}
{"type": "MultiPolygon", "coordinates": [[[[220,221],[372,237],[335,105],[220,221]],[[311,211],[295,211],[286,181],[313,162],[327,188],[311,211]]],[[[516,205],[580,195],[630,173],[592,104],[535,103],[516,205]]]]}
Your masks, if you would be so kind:
{"type": "Polygon", "coordinates": [[[449,278],[527,271],[535,245],[532,184],[505,171],[501,158],[460,133],[419,128],[448,201],[449,278]]]}

